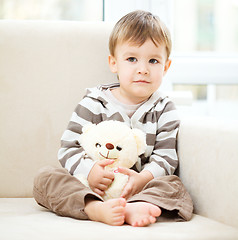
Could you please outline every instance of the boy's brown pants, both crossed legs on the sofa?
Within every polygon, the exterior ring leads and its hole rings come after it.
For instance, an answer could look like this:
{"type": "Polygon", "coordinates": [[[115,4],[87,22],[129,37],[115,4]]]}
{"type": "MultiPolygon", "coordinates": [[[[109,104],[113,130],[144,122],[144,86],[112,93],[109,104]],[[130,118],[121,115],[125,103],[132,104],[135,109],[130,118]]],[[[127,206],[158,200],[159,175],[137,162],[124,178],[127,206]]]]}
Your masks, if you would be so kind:
{"type": "MultiPolygon", "coordinates": [[[[67,217],[88,219],[84,212],[85,198],[103,199],[64,168],[45,167],[34,181],[33,195],[36,202],[50,211],[67,217]]],[[[163,212],[171,212],[177,219],[192,218],[193,203],[179,177],[175,175],[158,177],[145,185],[143,190],[127,202],[152,203],[163,212]]]]}

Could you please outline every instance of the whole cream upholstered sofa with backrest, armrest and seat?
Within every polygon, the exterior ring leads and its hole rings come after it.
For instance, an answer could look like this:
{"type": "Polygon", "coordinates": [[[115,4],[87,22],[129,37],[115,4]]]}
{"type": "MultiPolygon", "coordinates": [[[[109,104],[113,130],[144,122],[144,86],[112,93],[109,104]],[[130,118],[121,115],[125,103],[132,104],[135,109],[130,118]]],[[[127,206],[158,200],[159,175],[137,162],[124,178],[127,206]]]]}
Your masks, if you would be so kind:
{"type": "Polygon", "coordinates": [[[110,30],[102,22],[0,21],[0,239],[238,239],[238,127],[230,122],[182,119],[189,222],[112,227],[35,203],[34,176],[59,166],[60,138],[85,88],[117,81],[107,66],[110,30]]]}

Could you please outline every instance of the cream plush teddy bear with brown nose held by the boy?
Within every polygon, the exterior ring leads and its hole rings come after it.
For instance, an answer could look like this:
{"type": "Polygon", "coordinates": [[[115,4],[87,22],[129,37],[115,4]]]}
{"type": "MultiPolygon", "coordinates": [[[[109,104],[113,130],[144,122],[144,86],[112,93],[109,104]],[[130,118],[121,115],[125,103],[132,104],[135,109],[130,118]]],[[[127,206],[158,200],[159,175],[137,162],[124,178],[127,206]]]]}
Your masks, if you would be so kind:
{"type": "MultiPolygon", "coordinates": [[[[131,168],[138,157],[145,152],[145,133],[137,128],[131,129],[126,123],[114,120],[87,124],[82,128],[79,142],[93,161],[113,159],[106,169],[114,173],[114,180],[103,195],[103,199],[118,198],[128,181],[128,175],[119,173],[118,167],[131,168]]],[[[86,177],[75,177],[89,187],[86,177]]]]}

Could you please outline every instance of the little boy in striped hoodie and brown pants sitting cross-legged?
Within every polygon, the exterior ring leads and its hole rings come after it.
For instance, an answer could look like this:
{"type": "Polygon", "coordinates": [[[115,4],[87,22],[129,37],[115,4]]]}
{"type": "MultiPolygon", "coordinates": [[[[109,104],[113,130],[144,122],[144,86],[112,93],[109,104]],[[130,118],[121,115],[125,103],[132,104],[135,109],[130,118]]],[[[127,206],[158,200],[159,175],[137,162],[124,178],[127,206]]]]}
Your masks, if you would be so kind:
{"type": "Polygon", "coordinates": [[[119,83],[88,89],[61,139],[59,161],[64,168],[45,168],[35,179],[36,201],[51,211],[110,225],[146,226],[163,213],[189,220],[192,200],[180,179],[176,137],[179,119],[174,104],[158,91],[171,60],[170,34],[149,12],[121,18],[109,40],[109,66],[119,83]],[[114,175],[105,170],[113,160],[93,162],[77,139],[91,122],[123,121],[146,133],[147,149],[132,169],[121,198],[103,201],[114,175]],[[67,169],[67,170],[66,170],[67,169]],[[72,175],[84,174],[91,189],[72,175]]]}

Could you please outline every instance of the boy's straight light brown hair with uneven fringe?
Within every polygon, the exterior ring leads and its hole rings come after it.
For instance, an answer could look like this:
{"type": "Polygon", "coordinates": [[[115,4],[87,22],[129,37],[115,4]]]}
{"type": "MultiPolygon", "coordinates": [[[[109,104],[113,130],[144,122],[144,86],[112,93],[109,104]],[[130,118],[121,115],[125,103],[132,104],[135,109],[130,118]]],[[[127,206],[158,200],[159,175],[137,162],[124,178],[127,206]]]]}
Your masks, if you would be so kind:
{"type": "Polygon", "coordinates": [[[164,44],[167,53],[167,59],[170,56],[172,42],[168,28],[159,19],[150,12],[134,11],[122,17],[114,26],[109,38],[109,51],[115,56],[117,44],[131,42],[141,46],[146,40],[151,39],[152,42],[164,44]]]}

